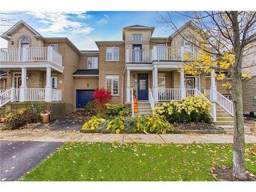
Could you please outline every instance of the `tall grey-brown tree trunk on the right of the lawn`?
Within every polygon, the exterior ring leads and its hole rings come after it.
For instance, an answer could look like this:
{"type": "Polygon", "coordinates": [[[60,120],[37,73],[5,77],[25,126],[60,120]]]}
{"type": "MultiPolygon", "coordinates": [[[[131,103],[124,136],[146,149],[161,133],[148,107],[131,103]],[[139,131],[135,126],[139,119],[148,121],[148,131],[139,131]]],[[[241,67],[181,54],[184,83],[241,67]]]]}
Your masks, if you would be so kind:
{"type": "Polygon", "coordinates": [[[231,69],[232,75],[232,98],[234,113],[234,132],[233,132],[233,176],[244,180],[246,179],[244,168],[244,117],[243,117],[243,98],[242,98],[242,55],[243,50],[240,44],[240,31],[237,11],[231,11],[233,35],[234,35],[234,55],[235,61],[231,69]]]}

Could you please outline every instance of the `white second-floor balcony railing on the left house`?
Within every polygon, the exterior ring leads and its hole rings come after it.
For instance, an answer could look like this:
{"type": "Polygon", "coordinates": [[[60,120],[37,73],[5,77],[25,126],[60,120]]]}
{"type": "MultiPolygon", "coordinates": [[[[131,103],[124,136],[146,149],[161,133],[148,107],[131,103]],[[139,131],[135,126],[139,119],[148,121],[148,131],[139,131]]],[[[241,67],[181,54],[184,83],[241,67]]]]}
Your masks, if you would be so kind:
{"type": "Polygon", "coordinates": [[[52,47],[0,49],[0,62],[51,61],[62,66],[62,55],[52,47]]]}

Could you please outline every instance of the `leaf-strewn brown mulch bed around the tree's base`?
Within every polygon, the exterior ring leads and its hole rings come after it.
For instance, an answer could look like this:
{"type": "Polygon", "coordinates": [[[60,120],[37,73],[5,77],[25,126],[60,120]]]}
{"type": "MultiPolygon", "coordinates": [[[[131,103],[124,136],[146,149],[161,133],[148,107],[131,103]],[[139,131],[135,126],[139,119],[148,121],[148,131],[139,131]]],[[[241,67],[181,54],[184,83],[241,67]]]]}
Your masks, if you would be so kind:
{"type": "Polygon", "coordinates": [[[246,172],[246,180],[240,180],[233,177],[233,167],[228,167],[225,165],[218,165],[212,168],[212,174],[222,180],[222,181],[256,181],[256,176],[246,172]]]}

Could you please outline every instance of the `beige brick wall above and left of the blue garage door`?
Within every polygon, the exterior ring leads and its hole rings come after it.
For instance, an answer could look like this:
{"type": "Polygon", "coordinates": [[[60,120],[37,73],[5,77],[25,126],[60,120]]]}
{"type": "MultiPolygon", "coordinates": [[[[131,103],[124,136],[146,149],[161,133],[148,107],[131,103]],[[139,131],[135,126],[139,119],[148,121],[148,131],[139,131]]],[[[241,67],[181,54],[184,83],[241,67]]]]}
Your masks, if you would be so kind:
{"type": "Polygon", "coordinates": [[[74,78],[74,110],[76,109],[76,90],[96,90],[97,88],[99,88],[99,78],[74,78]]]}

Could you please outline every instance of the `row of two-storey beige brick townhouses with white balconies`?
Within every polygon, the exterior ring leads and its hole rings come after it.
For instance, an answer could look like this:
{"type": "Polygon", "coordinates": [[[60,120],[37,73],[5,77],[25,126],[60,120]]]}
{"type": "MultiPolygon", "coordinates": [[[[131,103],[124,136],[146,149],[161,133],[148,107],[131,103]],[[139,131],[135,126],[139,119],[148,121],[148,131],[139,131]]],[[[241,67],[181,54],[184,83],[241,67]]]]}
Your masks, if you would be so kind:
{"type": "MultiPolygon", "coordinates": [[[[57,117],[83,109],[93,100],[94,91],[103,87],[111,91],[112,103],[131,106],[134,93],[150,108],[157,102],[204,92],[213,106],[232,116],[231,96],[221,81],[211,74],[178,72],[183,53],[197,56],[198,50],[178,33],[152,37],[154,29],[123,27],[122,40],[95,41],[98,51],[83,51],[66,37],[44,37],[20,20],[1,36],[8,41],[8,48],[0,49],[2,111],[40,101],[57,117]]],[[[194,31],[197,26],[188,22],[179,31],[188,29],[194,31]]],[[[244,96],[244,110],[256,112],[252,96],[256,91],[251,90],[244,96]]]]}

